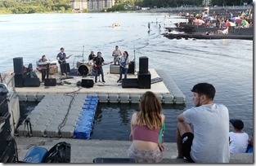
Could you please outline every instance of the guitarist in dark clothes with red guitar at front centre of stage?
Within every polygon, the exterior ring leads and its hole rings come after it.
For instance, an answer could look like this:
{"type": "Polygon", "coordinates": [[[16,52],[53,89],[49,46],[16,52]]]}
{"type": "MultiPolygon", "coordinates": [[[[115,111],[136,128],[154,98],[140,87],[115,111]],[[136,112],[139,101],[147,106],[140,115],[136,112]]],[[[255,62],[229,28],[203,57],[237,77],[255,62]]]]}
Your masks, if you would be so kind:
{"type": "Polygon", "coordinates": [[[102,82],[104,81],[104,74],[102,65],[104,65],[104,59],[101,57],[101,52],[97,52],[97,57],[92,59],[93,68],[95,69],[95,83],[97,83],[97,76],[101,74],[102,82]]]}

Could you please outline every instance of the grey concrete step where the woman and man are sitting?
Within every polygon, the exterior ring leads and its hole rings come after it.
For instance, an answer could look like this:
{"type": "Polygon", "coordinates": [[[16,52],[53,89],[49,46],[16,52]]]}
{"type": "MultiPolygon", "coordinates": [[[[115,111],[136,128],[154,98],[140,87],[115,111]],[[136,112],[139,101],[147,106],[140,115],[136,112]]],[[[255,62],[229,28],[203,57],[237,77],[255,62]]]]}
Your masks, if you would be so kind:
{"type": "MultiPolygon", "coordinates": [[[[71,163],[92,163],[95,158],[128,158],[127,151],[132,142],[116,140],[84,140],[72,138],[23,138],[16,137],[18,156],[22,160],[31,146],[43,146],[47,150],[58,142],[71,145],[71,163]]],[[[164,142],[164,159],[161,163],[186,163],[186,159],[176,159],[175,142],[164,142]]],[[[231,154],[230,163],[253,163],[253,154],[231,154]]]]}

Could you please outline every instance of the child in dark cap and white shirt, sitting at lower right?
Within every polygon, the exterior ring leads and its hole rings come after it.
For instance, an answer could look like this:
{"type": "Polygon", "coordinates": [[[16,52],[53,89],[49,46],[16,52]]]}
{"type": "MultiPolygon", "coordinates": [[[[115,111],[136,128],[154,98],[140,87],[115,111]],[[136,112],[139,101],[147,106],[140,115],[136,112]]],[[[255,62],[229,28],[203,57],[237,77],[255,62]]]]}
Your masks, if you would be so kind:
{"type": "Polygon", "coordinates": [[[229,151],[231,153],[245,153],[249,142],[249,136],[243,132],[244,122],[242,120],[230,120],[234,132],[229,132],[229,151]]]}

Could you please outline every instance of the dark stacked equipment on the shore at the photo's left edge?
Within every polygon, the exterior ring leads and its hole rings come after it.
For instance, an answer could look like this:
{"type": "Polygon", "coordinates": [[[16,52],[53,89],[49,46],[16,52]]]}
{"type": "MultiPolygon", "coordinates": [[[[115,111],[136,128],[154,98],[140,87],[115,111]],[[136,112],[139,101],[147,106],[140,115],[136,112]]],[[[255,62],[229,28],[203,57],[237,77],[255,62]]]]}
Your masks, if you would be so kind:
{"type": "Polygon", "coordinates": [[[7,89],[0,87],[0,163],[15,163],[16,149],[11,136],[10,117],[7,102],[7,89]]]}

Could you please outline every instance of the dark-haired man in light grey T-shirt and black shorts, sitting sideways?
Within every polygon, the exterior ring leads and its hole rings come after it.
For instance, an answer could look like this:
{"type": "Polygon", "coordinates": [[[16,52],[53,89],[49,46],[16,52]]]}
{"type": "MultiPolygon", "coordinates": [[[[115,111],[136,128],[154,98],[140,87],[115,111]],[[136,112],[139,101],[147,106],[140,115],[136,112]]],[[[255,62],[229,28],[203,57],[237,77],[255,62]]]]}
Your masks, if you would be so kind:
{"type": "Polygon", "coordinates": [[[196,84],[191,92],[195,107],[177,116],[177,159],[185,157],[195,163],[228,163],[227,107],[213,103],[216,91],[209,83],[196,84]]]}

